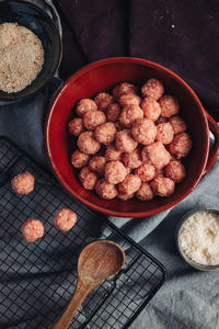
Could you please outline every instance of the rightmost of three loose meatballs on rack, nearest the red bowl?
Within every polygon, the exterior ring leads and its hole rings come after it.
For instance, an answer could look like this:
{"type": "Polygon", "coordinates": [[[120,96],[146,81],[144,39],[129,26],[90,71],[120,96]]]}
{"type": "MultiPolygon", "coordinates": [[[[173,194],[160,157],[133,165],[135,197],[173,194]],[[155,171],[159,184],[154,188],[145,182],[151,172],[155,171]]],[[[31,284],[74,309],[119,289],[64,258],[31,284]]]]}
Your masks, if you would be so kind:
{"type": "Polygon", "coordinates": [[[60,230],[70,230],[77,222],[77,214],[68,208],[62,208],[55,214],[54,224],[60,230]]]}

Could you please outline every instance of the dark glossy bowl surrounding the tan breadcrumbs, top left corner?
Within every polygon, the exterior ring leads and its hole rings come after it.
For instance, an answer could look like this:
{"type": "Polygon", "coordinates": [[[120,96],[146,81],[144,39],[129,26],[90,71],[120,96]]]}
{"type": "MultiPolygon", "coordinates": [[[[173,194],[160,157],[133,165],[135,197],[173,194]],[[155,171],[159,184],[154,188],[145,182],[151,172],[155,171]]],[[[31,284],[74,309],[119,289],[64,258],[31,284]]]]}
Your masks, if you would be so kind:
{"type": "Polygon", "coordinates": [[[54,76],[59,67],[62,46],[59,32],[49,15],[37,5],[25,1],[0,2],[0,24],[19,23],[30,29],[42,42],[44,65],[36,79],[21,91],[7,93],[0,90],[0,101],[18,101],[35,94],[54,76]]]}

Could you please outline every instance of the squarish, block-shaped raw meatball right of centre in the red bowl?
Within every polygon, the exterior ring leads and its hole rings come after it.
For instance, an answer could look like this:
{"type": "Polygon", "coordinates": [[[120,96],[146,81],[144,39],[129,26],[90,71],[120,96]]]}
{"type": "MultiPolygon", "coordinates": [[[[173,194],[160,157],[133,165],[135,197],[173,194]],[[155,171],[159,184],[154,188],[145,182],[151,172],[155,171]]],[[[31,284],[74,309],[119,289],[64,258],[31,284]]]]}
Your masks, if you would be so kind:
{"type": "Polygon", "coordinates": [[[171,155],[161,141],[145,146],[142,151],[148,154],[149,160],[157,169],[165,167],[171,160],[171,155]]]}

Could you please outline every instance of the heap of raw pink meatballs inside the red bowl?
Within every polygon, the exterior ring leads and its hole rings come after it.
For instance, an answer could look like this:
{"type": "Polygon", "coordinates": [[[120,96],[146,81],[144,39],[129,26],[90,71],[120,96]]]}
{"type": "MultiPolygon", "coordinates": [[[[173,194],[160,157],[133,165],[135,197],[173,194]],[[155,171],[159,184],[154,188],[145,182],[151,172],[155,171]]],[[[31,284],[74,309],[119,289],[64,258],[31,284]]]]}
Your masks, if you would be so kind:
{"type": "Polygon", "coordinates": [[[153,78],[140,89],[123,82],[112,94],[81,99],[68,131],[77,137],[70,161],[82,186],[104,200],[173,194],[185,179],[182,159],[192,148],[178,112],[176,98],[164,94],[163,83],[153,78]]]}

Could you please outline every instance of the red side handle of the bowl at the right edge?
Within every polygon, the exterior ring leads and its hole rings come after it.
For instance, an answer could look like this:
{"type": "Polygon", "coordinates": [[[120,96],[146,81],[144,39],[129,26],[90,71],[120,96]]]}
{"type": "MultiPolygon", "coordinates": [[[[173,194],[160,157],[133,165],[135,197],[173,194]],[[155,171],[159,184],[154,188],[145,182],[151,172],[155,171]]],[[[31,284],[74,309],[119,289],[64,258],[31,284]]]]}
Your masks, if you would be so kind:
{"type": "Polygon", "coordinates": [[[217,160],[217,158],[219,156],[219,125],[206,110],[205,110],[205,114],[208,120],[209,129],[215,136],[215,141],[214,141],[212,148],[209,152],[208,161],[207,161],[204,174],[212,167],[212,164],[215,163],[215,161],[217,160]]]}

